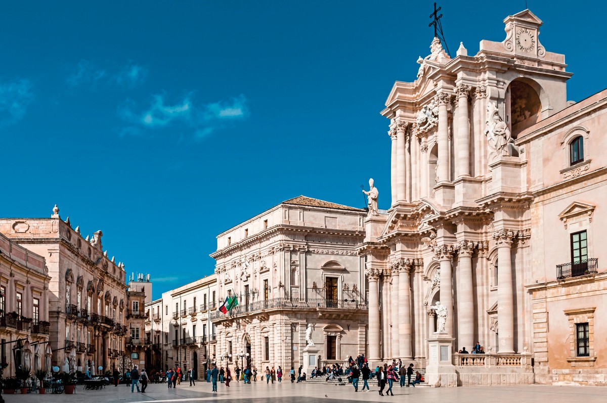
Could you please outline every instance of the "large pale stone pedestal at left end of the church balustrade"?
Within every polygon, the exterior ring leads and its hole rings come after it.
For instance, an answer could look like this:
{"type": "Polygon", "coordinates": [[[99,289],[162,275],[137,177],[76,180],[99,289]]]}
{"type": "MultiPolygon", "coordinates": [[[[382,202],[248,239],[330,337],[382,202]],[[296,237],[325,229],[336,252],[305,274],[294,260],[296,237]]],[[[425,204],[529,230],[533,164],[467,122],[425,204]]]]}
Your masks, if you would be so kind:
{"type": "Polygon", "coordinates": [[[426,382],[434,387],[456,387],[457,373],[453,365],[453,341],[446,333],[434,333],[428,342],[426,382]]]}

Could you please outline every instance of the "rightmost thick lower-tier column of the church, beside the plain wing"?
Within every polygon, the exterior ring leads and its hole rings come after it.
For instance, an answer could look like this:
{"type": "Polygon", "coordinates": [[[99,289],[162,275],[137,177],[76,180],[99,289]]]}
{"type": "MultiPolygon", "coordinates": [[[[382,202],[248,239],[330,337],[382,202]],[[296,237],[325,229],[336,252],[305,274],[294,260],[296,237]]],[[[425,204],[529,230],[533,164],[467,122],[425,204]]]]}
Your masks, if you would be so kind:
{"type": "Polygon", "coordinates": [[[497,320],[498,353],[514,353],[514,294],[512,290],[512,259],[510,246],[514,232],[496,231],[497,243],[497,320]]]}

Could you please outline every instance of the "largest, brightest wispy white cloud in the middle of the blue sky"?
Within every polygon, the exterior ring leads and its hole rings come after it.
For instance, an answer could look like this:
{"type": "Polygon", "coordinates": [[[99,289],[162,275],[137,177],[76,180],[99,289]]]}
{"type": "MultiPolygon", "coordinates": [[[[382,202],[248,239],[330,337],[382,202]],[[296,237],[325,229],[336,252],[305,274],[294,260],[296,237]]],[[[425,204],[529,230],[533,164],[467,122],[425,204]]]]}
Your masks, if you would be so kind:
{"type": "MultiPolygon", "coordinates": [[[[136,112],[138,108],[131,100],[120,106],[118,113],[131,126],[121,130],[122,135],[135,134],[134,127],[160,129],[176,127],[191,130],[194,140],[202,140],[215,130],[246,118],[248,108],[244,95],[229,101],[209,104],[196,104],[192,95],[186,95],[177,101],[167,101],[164,95],[154,95],[149,107],[136,112]]],[[[138,134],[138,132],[137,132],[138,134]]]]}

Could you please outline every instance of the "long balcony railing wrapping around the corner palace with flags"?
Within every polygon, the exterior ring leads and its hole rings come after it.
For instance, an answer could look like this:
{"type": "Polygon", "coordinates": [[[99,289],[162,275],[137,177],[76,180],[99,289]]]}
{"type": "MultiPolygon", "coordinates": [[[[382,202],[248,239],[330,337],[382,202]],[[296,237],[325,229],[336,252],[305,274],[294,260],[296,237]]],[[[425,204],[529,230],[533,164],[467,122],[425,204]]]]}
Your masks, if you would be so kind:
{"type": "Polygon", "coordinates": [[[237,305],[228,311],[226,315],[220,311],[211,313],[211,320],[222,316],[237,316],[248,313],[254,313],[269,309],[340,309],[340,310],[368,310],[366,301],[357,301],[354,299],[308,299],[308,300],[290,300],[286,298],[274,298],[269,300],[256,301],[253,303],[237,305]]]}

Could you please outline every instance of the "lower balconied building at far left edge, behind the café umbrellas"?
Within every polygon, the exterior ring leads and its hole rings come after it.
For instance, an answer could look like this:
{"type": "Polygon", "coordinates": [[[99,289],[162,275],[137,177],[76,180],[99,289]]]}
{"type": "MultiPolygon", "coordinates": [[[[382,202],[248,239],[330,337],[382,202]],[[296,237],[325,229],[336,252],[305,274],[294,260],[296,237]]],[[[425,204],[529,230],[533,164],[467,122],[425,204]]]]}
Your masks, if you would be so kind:
{"type": "Polygon", "coordinates": [[[49,270],[44,257],[0,234],[0,364],[4,377],[25,365],[46,369],[49,270]]]}

